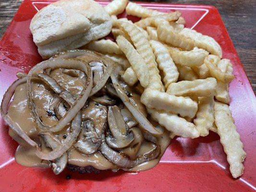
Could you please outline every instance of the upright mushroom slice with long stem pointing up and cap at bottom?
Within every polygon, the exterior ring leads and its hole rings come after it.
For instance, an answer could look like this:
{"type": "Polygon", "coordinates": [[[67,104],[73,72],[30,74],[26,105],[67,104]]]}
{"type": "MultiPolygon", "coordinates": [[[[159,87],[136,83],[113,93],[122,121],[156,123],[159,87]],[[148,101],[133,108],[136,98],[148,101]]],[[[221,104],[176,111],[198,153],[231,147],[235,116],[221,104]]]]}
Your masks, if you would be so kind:
{"type": "Polygon", "coordinates": [[[120,109],[117,106],[109,107],[108,123],[112,136],[106,138],[107,144],[113,149],[122,149],[129,146],[134,140],[134,133],[128,133],[120,109]]]}

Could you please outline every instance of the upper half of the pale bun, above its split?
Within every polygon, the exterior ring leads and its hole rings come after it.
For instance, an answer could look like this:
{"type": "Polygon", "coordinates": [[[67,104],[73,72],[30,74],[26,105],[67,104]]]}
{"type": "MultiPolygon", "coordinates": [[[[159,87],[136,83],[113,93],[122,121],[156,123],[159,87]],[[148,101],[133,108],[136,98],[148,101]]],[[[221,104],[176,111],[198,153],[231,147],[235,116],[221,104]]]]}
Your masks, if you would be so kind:
{"type": "Polygon", "coordinates": [[[94,0],[59,0],[33,17],[30,30],[37,46],[85,33],[91,26],[108,23],[98,38],[110,33],[109,14],[94,0]]]}

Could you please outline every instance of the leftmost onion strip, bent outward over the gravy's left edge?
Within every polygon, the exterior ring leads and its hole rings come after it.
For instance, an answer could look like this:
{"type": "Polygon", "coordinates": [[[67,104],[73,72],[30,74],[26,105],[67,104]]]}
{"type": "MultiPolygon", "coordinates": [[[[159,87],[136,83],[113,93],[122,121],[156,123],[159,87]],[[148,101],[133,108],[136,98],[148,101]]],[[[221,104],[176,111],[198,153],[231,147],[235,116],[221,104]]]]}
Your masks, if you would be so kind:
{"type": "Polygon", "coordinates": [[[12,99],[12,96],[14,94],[14,91],[16,89],[16,87],[20,84],[24,84],[27,81],[27,77],[22,77],[20,79],[17,79],[16,81],[14,81],[11,86],[7,89],[7,91],[5,92],[5,94],[3,95],[3,99],[1,102],[1,109],[0,109],[0,113],[1,116],[3,118],[3,120],[5,120],[5,122],[9,125],[9,127],[16,132],[21,138],[23,138],[28,144],[30,144],[33,147],[37,146],[37,143],[34,142],[32,139],[30,139],[27,134],[19,127],[16,125],[16,123],[7,116],[7,111],[8,111],[8,105],[12,99]]]}

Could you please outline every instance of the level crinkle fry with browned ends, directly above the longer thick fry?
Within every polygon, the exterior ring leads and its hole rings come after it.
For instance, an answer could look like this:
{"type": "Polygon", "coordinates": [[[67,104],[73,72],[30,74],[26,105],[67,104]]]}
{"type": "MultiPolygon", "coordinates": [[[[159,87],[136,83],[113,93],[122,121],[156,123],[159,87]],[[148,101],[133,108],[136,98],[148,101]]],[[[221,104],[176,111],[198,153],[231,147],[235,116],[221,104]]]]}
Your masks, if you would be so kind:
{"type": "Polygon", "coordinates": [[[217,81],[213,77],[172,83],[167,93],[174,96],[215,96],[217,81]]]}

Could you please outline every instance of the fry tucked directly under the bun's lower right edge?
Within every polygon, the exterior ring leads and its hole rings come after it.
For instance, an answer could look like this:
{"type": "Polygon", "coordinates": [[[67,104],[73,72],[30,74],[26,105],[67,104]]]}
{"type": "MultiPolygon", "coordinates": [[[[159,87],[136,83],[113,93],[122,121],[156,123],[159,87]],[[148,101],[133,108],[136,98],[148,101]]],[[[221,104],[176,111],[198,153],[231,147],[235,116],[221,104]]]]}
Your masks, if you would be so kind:
{"type": "Polygon", "coordinates": [[[118,45],[111,41],[110,39],[101,39],[101,40],[95,40],[91,41],[90,43],[86,44],[82,48],[97,51],[100,53],[114,53],[114,54],[122,54],[121,49],[118,47],[118,45]]]}

